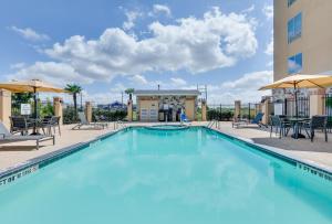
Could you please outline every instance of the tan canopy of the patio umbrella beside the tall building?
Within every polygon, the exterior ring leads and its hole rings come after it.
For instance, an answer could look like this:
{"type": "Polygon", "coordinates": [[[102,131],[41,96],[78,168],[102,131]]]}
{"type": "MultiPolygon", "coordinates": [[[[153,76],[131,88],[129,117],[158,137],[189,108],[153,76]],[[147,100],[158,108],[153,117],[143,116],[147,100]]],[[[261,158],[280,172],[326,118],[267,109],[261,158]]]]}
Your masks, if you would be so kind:
{"type": "Polygon", "coordinates": [[[295,74],[262,86],[259,90],[274,88],[325,88],[332,86],[332,75],[295,74]]]}

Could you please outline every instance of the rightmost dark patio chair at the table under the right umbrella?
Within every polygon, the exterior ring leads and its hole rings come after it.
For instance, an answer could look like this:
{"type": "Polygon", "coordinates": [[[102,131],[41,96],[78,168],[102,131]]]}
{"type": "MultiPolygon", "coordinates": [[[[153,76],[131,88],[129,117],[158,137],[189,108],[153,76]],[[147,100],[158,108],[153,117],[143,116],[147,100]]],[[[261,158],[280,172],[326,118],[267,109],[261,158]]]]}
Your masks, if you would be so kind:
{"type": "Polygon", "coordinates": [[[313,141],[314,130],[321,129],[324,132],[325,141],[328,141],[328,116],[312,116],[309,122],[303,124],[303,128],[308,137],[313,141]]]}

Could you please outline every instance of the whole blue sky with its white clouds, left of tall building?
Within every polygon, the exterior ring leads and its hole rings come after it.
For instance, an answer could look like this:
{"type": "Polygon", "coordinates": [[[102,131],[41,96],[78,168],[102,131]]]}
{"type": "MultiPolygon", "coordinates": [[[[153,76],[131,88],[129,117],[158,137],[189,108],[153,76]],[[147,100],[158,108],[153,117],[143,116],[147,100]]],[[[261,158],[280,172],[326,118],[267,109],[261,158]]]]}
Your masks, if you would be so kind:
{"type": "Polygon", "coordinates": [[[272,0],[4,0],[0,17],[2,81],[79,83],[96,103],[199,84],[210,104],[272,81],[272,0]]]}

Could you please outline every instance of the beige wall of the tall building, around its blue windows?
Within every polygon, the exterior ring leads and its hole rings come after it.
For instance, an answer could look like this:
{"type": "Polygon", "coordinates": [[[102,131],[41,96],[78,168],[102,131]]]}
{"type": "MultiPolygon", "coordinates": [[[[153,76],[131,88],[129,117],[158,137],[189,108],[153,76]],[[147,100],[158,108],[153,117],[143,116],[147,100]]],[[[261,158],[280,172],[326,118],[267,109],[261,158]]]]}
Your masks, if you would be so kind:
{"type": "Polygon", "coordinates": [[[332,71],[332,1],[274,0],[274,81],[288,76],[288,57],[302,53],[303,74],[332,71]],[[301,38],[288,43],[288,21],[302,12],[301,38]]]}

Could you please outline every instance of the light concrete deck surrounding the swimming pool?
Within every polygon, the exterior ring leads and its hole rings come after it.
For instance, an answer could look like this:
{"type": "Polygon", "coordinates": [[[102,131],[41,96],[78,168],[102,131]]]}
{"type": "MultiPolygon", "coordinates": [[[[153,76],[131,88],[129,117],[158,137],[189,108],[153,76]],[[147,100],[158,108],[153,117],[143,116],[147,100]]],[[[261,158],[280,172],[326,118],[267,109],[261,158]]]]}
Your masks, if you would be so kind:
{"type": "MultiPolygon", "coordinates": [[[[193,122],[193,126],[204,126],[208,122],[193,122]]],[[[152,122],[129,122],[126,126],[151,126],[152,122]]],[[[11,167],[17,167],[27,160],[63,149],[79,142],[87,142],[98,136],[114,131],[114,125],[110,124],[108,128],[101,130],[82,129],[71,130],[73,125],[62,126],[62,135],[56,134],[55,146],[52,141],[41,142],[40,149],[35,150],[34,141],[22,141],[0,145],[0,172],[11,167]]],[[[216,127],[214,127],[217,129],[216,127]]],[[[318,135],[313,142],[309,139],[281,138],[276,136],[270,138],[268,129],[260,129],[255,126],[242,128],[232,128],[231,122],[220,122],[220,131],[249,139],[255,143],[264,145],[281,149],[294,158],[312,161],[332,169],[332,134],[329,134],[329,142],[325,142],[322,135],[318,135]]]]}

